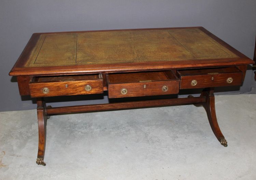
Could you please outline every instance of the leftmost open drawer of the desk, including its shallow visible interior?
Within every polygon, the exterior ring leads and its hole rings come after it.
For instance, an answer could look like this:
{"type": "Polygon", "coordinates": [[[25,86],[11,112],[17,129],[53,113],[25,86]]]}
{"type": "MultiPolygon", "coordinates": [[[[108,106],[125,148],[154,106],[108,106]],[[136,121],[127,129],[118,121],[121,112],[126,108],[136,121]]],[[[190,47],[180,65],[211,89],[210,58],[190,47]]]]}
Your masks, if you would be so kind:
{"type": "Polygon", "coordinates": [[[29,82],[31,97],[67,96],[103,93],[102,74],[33,77],[29,82]]]}

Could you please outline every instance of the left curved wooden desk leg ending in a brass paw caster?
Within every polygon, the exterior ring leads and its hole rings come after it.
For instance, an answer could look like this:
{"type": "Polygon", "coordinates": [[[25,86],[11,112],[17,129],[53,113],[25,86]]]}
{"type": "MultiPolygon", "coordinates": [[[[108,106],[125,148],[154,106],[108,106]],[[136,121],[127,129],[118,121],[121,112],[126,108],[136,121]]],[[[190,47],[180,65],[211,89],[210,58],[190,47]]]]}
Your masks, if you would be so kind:
{"type": "Polygon", "coordinates": [[[46,122],[47,115],[45,113],[45,102],[42,99],[37,99],[37,118],[38,118],[38,154],[36,163],[38,165],[45,166],[44,163],[44,152],[45,152],[45,142],[46,142],[46,122]]]}

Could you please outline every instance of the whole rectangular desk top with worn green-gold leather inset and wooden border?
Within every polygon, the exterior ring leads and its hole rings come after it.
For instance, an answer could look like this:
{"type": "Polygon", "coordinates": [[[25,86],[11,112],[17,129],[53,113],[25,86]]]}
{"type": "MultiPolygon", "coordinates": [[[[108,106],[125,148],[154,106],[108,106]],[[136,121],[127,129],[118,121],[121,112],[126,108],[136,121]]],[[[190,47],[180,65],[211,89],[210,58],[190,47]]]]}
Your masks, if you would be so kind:
{"type": "Polygon", "coordinates": [[[34,33],[10,75],[210,67],[251,61],[202,27],[34,33]]]}

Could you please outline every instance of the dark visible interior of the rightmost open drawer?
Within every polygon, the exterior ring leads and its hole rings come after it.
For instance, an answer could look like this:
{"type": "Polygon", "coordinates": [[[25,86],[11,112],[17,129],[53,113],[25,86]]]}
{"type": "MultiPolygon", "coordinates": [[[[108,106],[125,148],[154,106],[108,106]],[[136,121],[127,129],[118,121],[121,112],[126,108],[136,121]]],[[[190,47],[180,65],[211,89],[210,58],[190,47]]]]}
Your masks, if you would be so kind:
{"type": "Polygon", "coordinates": [[[237,67],[222,67],[222,68],[207,68],[207,69],[186,69],[177,71],[180,76],[194,76],[194,75],[215,75],[225,73],[242,72],[237,67]]]}

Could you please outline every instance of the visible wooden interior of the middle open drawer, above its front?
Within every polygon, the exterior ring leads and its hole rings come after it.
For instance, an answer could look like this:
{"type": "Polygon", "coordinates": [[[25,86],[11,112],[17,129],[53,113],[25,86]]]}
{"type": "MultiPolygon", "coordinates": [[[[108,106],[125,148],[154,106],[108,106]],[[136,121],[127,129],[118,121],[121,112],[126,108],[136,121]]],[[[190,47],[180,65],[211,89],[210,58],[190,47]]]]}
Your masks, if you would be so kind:
{"type": "Polygon", "coordinates": [[[132,72],[132,73],[113,73],[108,74],[108,83],[123,84],[136,82],[154,82],[169,81],[178,78],[172,71],[150,71],[150,72],[132,72]]]}

